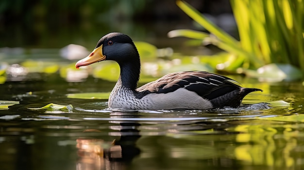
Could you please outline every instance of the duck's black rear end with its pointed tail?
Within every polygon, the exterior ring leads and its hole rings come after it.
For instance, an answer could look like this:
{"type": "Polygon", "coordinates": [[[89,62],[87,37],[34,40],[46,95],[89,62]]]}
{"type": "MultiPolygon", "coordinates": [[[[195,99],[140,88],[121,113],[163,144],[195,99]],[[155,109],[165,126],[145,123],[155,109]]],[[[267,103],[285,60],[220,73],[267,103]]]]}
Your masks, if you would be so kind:
{"type": "Polygon", "coordinates": [[[222,107],[238,107],[243,98],[252,92],[261,91],[261,89],[255,89],[255,88],[240,88],[238,90],[226,93],[220,97],[217,97],[215,99],[210,100],[212,103],[213,108],[222,108],[222,107]]]}

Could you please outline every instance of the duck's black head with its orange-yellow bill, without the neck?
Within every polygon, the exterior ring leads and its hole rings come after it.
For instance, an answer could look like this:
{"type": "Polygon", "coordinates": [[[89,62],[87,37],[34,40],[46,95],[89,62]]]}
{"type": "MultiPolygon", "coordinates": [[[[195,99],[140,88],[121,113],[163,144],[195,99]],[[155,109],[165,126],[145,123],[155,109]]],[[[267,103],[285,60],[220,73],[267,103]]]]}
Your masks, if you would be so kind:
{"type": "Polygon", "coordinates": [[[112,32],[104,35],[95,49],[86,58],[76,63],[76,68],[104,60],[113,60],[119,65],[139,62],[139,54],[132,39],[123,33],[112,32]]]}

